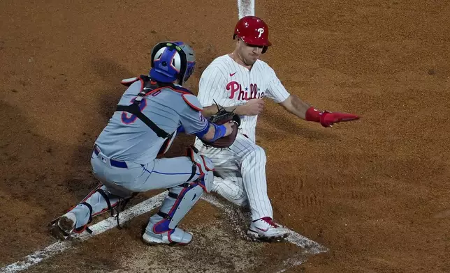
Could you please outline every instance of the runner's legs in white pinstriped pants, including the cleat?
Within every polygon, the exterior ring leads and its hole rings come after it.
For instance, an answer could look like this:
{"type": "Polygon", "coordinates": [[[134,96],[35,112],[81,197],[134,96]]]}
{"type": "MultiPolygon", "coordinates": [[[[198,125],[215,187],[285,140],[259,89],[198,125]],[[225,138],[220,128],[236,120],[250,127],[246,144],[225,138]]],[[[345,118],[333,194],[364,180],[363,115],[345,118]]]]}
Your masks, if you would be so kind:
{"type": "Polygon", "coordinates": [[[196,147],[215,164],[213,192],[232,203],[248,203],[252,210],[249,237],[279,240],[288,231],[273,221],[273,210],[267,194],[266,153],[254,141],[238,133],[229,149],[205,148],[196,139],[196,147]],[[245,195],[245,197],[241,197],[245,195]]]}

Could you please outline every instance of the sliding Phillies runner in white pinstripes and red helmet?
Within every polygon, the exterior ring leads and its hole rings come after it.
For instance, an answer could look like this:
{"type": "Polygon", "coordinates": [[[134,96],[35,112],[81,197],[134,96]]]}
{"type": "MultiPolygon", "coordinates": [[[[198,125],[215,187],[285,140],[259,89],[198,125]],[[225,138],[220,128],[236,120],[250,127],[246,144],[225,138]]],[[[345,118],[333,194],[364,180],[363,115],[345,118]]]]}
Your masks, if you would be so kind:
{"type": "Polygon", "coordinates": [[[271,45],[268,26],[259,17],[242,17],[235,26],[235,49],[212,61],[201,75],[198,100],[203,115],[210,116],[219,104],[240,116],[241,128],[229,149],[205,148],[196,138],[199,152],[215,164],[212,192],[237,205],[249,205],[252,222],[247,235],[254,240],[280,240],[286,229],[273,221],[272,205],[267,194],[266,154],[255,143],[258,114],[263,98],[279,103],[291,114],[330,127],[333,123],[356,120],[353,114],[319,111],[291,95],[270,66],[259,60],[271,45]]]}

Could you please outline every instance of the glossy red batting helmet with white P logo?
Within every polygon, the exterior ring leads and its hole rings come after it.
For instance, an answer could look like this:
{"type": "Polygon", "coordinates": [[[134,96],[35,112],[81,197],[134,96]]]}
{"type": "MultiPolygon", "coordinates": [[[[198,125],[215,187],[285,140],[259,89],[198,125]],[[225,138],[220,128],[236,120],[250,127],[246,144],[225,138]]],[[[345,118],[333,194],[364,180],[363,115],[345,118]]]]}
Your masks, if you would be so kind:
{"type": "Polygon", "coordinates": [[[238,36],[249,45],[258,45],[268,47],[272,45],[269,42],[269,27],[256,16],[242,17],[234,29],[233,39],[238,36]]]}

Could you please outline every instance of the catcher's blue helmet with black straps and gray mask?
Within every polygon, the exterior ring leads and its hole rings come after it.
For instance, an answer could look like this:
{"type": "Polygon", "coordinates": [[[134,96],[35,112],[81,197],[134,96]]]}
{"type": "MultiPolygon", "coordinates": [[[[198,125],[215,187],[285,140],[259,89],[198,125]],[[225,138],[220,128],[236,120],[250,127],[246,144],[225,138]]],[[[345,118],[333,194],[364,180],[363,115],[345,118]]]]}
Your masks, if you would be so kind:
{"type": "Polygon", "coordinates": [[[159,42],[152,49],[152,69],[150,77],[156,81],[180,84],[191,77],[195,70],[194,49],[184,42],[159,42]]]}

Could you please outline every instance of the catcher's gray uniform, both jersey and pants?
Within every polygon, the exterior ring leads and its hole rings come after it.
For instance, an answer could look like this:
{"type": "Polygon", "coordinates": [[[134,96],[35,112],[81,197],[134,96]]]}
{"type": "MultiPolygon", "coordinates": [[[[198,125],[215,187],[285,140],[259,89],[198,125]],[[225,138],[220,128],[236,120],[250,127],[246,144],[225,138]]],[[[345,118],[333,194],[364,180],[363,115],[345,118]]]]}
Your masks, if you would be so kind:
{"type": "MultiPolygon", "coordinates": [[[[199,105],[196,97],[189,93],[180,93],[184,89],[176,87],[179,88],[176,91],[162,88],[145,96],[143,103],[140,104],[143,114],[170,134],[176,134],[177,128],[181,125],[186,134],[205,130],[208,121],[200,111],[191,106],[199,105]]],[[[140,92],[140,88],[140,81],[131,84],[119,104],[131,103],[140,92]]],[[[201,176],[202,170],[193,165],[191,157],[157,159],[163,145],[164,139],[149,130],[142,120],[126,112],[115,112],[96,139],[91,158],[92,171],[96,178],[101,180],[102,189],[108,195],[110,205],[114,206],[120,198],[131,197],[133,192],[146,192],[151,189],[175,187],[173,191],[180,194],[184,188],[179,185],[195,181],[201,176]]],[[[212,169],[212,164],[210,168],[212,169]]],[[[198,187],[196,191],[198,197],[201,190],[198,187]]],[[[80,203],[72,210],[77,217],[75,228],[85,226],[92,215],[108,210],[106,198],[98,192],[89,196],[85,203],[80,203]],[[92,206],[92,212],[85,203],[92,206]]],[[[168,210],[172,205],[168,206],[168,210]]],[[[161,220],[159,215],[156,216],[157,220],[161,220]]],[[[150,224],[149,226],[152,227],[150,224]]]]}

